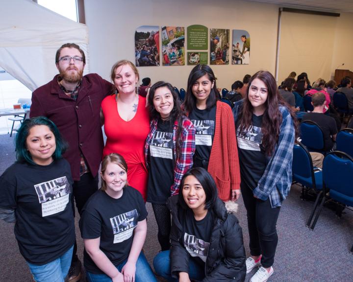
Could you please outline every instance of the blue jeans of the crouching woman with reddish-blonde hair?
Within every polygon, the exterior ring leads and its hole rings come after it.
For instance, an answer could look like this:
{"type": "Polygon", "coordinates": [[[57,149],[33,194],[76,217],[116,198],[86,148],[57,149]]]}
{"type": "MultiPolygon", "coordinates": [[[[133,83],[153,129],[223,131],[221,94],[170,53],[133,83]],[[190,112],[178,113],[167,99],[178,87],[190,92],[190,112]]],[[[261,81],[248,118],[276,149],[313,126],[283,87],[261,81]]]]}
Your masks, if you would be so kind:
{"type": "MultiPolygon", "coordinates": [[[[116,266],[120,272],[122,271],[126,261],[127,258],[116,266]]],[[[112,282],[111,278],[106,274],[93,274],[86,271],[86,277],[88,282],[112,282]]],[[[157,282],[151,266],[142,252],[136,261],[135,282],[157,282]]]]}

